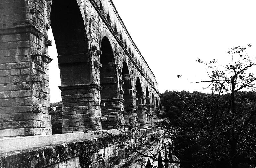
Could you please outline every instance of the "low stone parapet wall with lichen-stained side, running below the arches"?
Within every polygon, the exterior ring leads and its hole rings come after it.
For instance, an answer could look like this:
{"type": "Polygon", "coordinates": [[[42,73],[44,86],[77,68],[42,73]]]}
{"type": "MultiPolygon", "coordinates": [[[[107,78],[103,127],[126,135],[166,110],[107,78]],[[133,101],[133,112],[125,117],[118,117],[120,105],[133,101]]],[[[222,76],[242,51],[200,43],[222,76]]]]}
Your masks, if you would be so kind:
{"type": "MultiPolygon", "coordinates": [[[[83,168],[83,167],[113,167],[116,166],[113,163],[113,157],[124,156],[125,149],[118,147],[117,139],[131,134],[129,132],[123,132],[122,130],[106,131],[112,133],[115,138],[103,136],[96,132],[84,133],[70,133],[63,134],[69,139],[65,140],[63,135],[48,135],[47,136],[33,136],[26,137],[28,142],[35,143],[36,147],[29,149],[22,149],[2,153],[0,167],[1,168],[28,168],[28,167],[67,167],[67,168],[83,168]],[[123,133],[122,133],[123,132],[123,133]],[[96,133],[96,134],[95,134],[96,133]],[[72,135],[72,136],[70,136],[72,135]],[[74,136],[73,136],[74,135],[74,136]],[[48,141],[44,145],[39,144],[37,140],[40,138],[48,141]],[[73,139],[72,139],[73,137],[73,139]],[[117,139],[116,139],[117,138],[117,139]],[[57,142],[57,141],[60,142],[57,142]],[[66,142],[64,142],[66,141],[66,142]],[[37,144],[36,144],[37,143],[37,144]],[[47,144],[48,143],[48,144],[47,144]],[[101,164],[98,160],[99,154],[104,159],[105,164],[101,164]],[[88,158],[91,158],[88,159],[88,158]]],[[[134,143],[134,138],[141,135],[145,135],[150,139],[152,135],[159,137],[163,135],[164,131],[157,128],[148,128],[133,132],[130,139],[126,141],[130,144],[134,143]]],[[[10,143],[15,138],[10,139],[10,143]]],[[[20,139],[19,139],[20,140],[20,139]]],[[[4,145],[11,146],[5,141],[4,145]]],[[[138,142],[137,142],[138,143],[138,142]]],[[[1,148],[2,148],[1,144],[1,148]]],[[[24,147],[25,148],[25,147],[24,147]]],[[[13,149],[12,149],[13,150],[13,149]]],[[[6,150],[7,151],[7,150],[6,150]]],[[[125,166],[123,166],[125,167],[125,166]]]]}

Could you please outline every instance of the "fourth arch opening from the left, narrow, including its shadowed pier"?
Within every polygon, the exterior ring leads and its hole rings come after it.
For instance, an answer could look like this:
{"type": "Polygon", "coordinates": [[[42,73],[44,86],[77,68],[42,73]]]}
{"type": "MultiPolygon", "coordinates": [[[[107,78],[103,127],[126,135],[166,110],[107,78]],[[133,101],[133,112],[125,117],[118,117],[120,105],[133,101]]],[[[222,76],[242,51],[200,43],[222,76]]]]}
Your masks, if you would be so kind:
{"type": "Polygon", "coordinates": [[[147,128],[146,107],[144,105],[144,98],[139,77],[136,80],[136,106],[136,113],[138,116],[137,125],[140,128],[147,128]]]}

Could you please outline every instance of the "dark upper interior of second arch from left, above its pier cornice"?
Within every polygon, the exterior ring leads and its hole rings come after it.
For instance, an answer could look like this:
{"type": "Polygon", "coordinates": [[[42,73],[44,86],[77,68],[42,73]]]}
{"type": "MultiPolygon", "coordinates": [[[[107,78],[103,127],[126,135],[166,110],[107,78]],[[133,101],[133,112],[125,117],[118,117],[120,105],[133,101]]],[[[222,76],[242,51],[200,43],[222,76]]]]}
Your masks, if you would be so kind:
{"type": "Polygon", "coordinates": [[[113,99],[118,95],[117,72],[114,53],[108,38],[105,36],[101,41],[100,63],[100,86],[101,99],[113,99]]]}

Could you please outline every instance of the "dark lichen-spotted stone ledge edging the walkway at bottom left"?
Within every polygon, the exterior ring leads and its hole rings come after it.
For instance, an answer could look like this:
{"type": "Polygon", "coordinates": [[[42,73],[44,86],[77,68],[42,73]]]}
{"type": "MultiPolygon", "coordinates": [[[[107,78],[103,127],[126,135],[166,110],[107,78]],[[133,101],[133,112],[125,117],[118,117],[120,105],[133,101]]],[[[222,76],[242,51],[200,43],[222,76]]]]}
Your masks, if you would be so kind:
{"type": "MultiPolygon", "coordinates": [[[[138,131],[138,136],[146,135],[151,133],[160,133],[160,129],[157,128],[148,128],[138,131]]],[[[119,130],[108,130],[108,132],[114,132],[114,135],[119,136],[119,138],[124,136],[124,134],[120,134],[119,130]],[[119,133],[118,133],[119,132],[119,133]]],[[[84,133],[71,133],[69,135],[74,134],[84,134],[84,133]]],[[[86,134],[92,135],[92,132],[88,132],[86,134]]],[[[86,135],[84,134],[84,135],[86,135]]],[[[128,133],[126,133],[128,134],[128,133]]],[[[59,135],[46,135],[46,136],[55,136],[59,135]]],[[[37,136],[44,137],[44,136],[37,136]]],[[[71,136],[73,137],[73,136],[71,136]]],[[[134,133],[133,136],[134,137],[134,133]]],[[[33,137],[25,137],[27,141],[31,141],[33,137]]],[[[63,138],[62,138],[63,141],[63,138]]],[[[51,164],[55,164],[64,160],[67,160],[72,157],[79,156],[82,152],[88,153],[93,152],[110,145],[116,144],[114,138],[102,137],[101,134],[93,135],[91,139],[87,140],[69,140],[69,142],[61,142],[61,143],[51,143],[46,146],[38,146],[29,149],[16,150],[12,152],[2,153],[0,155],[1,167],[11,168],[11,167],[19,167],[19,168],[27,168],[27,167],[45,167],[51,164]],[[84,150],[83,150],[84,149],[84,150]]],[[[2,146],[2,145],[1,145],[2,146]]]]}

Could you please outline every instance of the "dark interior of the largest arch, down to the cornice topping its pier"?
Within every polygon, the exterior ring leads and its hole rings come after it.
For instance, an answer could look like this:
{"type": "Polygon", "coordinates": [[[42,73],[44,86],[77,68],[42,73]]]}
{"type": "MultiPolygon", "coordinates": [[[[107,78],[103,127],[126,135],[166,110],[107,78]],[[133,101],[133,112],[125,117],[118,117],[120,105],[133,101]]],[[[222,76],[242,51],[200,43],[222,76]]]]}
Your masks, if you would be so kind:
{"type": "Polygon", "coordinates": [[[84,19],[76,0],[53,0],[50,19],[59,55],[61,85],[84,84],[88,81],[89,66],[84,66],[84,62],[63,64],[67,57],[90,52],[84,19]]]}

